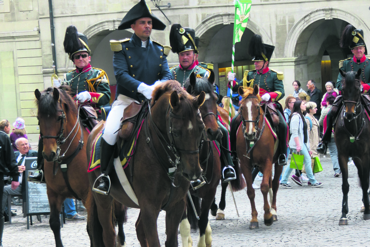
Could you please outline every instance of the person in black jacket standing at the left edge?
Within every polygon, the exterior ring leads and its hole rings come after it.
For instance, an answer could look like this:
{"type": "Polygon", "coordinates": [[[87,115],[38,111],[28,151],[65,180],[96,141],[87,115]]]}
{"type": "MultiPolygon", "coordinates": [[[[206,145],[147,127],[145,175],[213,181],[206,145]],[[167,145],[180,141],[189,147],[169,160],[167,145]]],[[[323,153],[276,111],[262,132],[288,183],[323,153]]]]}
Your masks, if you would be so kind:
{"type": "MultiPolygon", "coordinates": [[[[8,120],[0,121],[0,198],[3,198],[4,192],[4,175],[13,177],[11,188],[15,190],[19,186],[19,171],[14,155],[13,148],[8,134],[10,133],[10,122],[8,120]],[[9,173],[7,173],[8,168],[9,173]]],[[[3,204],[0,203],[0,212],[3,212],[3,204]]],[[[0,246],[2,245],[4,230],[4,216],[0,216],[0,246]]]]}

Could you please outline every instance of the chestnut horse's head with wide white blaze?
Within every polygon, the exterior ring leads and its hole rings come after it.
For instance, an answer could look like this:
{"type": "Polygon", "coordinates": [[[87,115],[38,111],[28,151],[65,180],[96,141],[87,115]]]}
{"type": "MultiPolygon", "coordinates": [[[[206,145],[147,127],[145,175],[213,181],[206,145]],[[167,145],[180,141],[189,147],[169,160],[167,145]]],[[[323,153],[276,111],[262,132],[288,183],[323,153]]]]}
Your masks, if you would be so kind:
{"type": "Polygon", "coordinates": [[[260,102],[259,87],[255,85],[253,88],[239,87],[239,94],[242,96],[240,104],[240,114],[243,121],[243,134],[248,140],[256,138],[259,130],[258,124],[260,119],[260,102]]]}

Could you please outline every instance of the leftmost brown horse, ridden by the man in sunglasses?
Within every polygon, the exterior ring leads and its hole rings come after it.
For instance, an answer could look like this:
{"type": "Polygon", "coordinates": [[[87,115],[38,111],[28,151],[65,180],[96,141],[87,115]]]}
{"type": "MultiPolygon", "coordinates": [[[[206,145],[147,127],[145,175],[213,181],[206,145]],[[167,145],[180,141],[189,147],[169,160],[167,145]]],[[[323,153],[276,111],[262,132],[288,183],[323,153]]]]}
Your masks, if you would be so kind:
{"type": "MultiPolygon", "coordinates": [[[[88,132],[80,124],[78,109],[69,93],[67,86],[61,86],[60,89],[49,87],[42,92],[35,90],[37,118],[43,141],[42,154],[45,159],[44,176],[50,204],[49,223],[57,247],[63,246],[59,214],[65,198],[80,198],[89,210],[86,201],[92,197],[87,176],[86,145],[84,145],[87,142],[88,132]]],[[[122,217],[124,218],[125,215],[118,217],[118,221],[121,222],[120,227],[124,222],[122,217]]],[[[98,237],[92,236],[89,230],[88,234],[90,240],[98,237]]],[[[94,246],[92,241],[91,246],[94,246]]]]}

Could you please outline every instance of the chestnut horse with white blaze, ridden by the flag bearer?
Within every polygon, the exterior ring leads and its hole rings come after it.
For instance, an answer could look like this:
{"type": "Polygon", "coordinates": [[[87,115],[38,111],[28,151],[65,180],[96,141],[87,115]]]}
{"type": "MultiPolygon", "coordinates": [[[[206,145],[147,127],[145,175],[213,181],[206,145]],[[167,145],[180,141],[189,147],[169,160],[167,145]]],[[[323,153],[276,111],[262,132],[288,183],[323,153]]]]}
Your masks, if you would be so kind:
{"type": "Polygon", "coordinates": [[[238,128],[236,134],[236,153],[240,160],[240,167],[244,174],[247,184],[247,194],[252,207],[252,220],[249,228],[258,228],[257,210],[255,206],[255,190],[252,187],[252,168],[258,166],[263,173],[261,183],[261,192],[263,194],[265,214],[263,216],[265,225],[270,226],[276,217],[276,194],[279,188],[279,177],[283,167],[277,165],[278,154],[274,154],[274,149],[277,148],[277,140],[268,128],[269,123],[265,119],[265,114],[260,107],[261,97],[259,96],[259,87],[255,85],[252,88],[239,87],[239,94],[242,96],[240,105],[240,115],[242,124],[238,128]],[[250,148],[250,141],[254,141],[254,145],[250,148]],[[274,148],[275,147],[275,148],[274,148]],[[272,164],[275,163],[275,176],[272,177],[272,164]],[[271,207],[268,202],[268,193],[272,189],[271,207]]]}

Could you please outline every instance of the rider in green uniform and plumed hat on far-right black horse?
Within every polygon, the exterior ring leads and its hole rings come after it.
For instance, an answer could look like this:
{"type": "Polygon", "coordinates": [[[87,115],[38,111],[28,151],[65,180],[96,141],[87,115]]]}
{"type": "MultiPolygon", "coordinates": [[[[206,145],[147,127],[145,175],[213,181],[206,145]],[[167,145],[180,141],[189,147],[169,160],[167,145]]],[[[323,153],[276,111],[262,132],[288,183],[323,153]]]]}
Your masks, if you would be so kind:
{"type": "MultiPolygon", "coordinates": [[[[339,69],[344,72],[354,71],[357,72],[361,69],[361,86],[363,87],[362,93],[367,93],[370,89],[370,63],[369,59],[365,56],[367,49],[364,41],[364,31],[362,29],[356,29],[351,24],[347,25],[340,37],[340,47],[343,49],[351,49],[353,57],[349,59],[339,61],[339,69]]],[[[338,90],[342,90],[342,75],[338,74],[336,87],[338,90]]],[[[327,144],[329,143],[332,136],[333,119],[336,117],[337,110],[342,106],[342,96],[338,96],[334,101],[332,109],[326,116],[326,130],[321,140],[321,143],[317,146],[316,151],[320,154],[326,154],[327,144]]]]}

